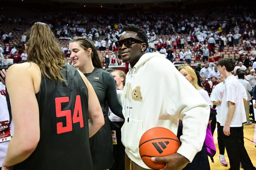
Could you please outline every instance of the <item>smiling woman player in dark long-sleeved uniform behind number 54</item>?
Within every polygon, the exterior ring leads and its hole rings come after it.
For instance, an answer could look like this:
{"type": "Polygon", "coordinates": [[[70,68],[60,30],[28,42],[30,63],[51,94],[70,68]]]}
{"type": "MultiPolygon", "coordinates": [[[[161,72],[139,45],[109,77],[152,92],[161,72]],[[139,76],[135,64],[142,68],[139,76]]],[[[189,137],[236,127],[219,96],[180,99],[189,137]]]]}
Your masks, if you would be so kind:
{"type": "Polygon", "coordinates": [[[112,112],[124,118],[122,107],[116,94],[116,83],[113,76],[103,70],[100,58],[92,41],[84,37],[77,37],[70,41],[69,50],[71,60],[89,82],[92,84],[100,101],[100,106],[105,118],[105,124],[90,138],[90,148],[94,170],[105,170],[112,167],[112,132],[108,122],[106,106],[108,102],[112,112]]]}

